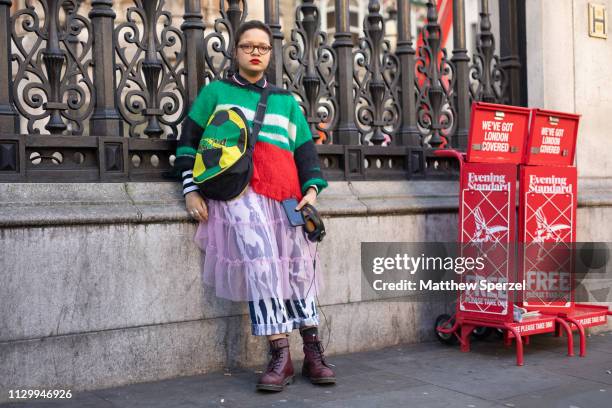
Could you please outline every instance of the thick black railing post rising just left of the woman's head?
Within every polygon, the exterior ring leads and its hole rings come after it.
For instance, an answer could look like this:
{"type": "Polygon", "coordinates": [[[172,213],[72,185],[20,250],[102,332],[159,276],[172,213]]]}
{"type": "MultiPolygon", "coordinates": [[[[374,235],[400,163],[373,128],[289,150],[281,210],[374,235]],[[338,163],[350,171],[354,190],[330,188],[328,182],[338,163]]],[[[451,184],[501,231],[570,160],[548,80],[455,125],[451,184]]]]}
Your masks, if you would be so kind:
{"type": "Polygon", "coordinates": [[[185,103],[191,106],[204,85],[204,22],[200,0],[185,0],[181,30],[185,35],[185,103]]]}

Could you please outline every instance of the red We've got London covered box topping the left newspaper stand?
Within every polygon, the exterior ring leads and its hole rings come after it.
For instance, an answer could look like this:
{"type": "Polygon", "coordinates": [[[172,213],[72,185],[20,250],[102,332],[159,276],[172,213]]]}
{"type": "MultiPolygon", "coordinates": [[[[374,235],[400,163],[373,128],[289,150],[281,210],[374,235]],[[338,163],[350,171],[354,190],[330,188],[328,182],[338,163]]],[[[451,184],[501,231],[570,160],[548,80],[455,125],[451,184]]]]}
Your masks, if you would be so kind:
{"type": "Polygon", "coordinates": [[[467,161],[519,164],[523,160],[529,115],[527,108],[473,103],[467,161]]]}

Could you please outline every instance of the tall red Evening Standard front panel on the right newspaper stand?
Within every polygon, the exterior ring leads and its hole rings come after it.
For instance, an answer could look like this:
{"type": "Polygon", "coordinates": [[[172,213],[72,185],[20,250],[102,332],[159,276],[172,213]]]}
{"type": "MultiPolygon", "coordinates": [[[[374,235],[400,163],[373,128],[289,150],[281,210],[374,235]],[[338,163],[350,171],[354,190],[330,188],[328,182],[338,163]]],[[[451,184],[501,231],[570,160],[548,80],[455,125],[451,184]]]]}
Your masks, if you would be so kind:
{"type": "Polygon", "coordinates": [[[542,312],[573,307],[575,167],[521,166],[520,271],[523,305],[542,312]]]}

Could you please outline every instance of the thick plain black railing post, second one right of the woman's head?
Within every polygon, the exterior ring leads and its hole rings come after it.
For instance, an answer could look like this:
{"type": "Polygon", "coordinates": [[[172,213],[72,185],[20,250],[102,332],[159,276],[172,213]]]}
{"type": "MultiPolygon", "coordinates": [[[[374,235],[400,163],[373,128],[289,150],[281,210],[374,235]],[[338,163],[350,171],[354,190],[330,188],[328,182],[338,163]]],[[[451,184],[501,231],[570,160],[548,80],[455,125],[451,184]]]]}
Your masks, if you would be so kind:
{"type": "Polygon", "coordinates": [[[349,31],[349,0],[335,0],[336,33],[333,48],[338,56],[336,71],[336,98],[338,100],[338,125],[334,143],[358,145],[359,133],[355,126],[353,95],[353,40],[349,31]]]}

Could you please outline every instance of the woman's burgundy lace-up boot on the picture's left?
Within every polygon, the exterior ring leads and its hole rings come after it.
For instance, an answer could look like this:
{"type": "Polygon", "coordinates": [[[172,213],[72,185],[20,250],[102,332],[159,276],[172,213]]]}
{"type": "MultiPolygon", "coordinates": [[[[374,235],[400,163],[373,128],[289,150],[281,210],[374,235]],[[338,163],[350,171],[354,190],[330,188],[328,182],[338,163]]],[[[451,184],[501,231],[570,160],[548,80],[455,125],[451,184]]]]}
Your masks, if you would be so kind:
{"type": "Polygon", "coordinates": [[[270,354],[272,358],[268,363],[266,371],[259,377],[258,390],[282,391],[285,385],[293,382],[293,363],[289,353],[289,339],[281,338],[272,340],[270,343],[270,354]]]}

